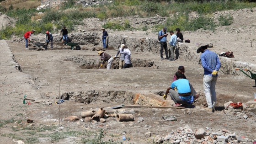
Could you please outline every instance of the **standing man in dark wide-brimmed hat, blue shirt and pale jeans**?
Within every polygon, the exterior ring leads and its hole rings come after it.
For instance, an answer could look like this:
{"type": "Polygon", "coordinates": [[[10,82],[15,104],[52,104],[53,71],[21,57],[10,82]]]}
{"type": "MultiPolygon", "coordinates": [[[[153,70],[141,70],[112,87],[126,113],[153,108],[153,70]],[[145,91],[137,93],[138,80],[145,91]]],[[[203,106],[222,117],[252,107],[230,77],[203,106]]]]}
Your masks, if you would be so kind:
{"type": "Polygon", "coordinates": [[[216,92],[215,85],[218,78],[218,71],[221,66],[219,57],[216,53],[209,51],[209,45],[201,45],[197,49],[197,53],[202,53],[200,56],[202,66],[204,69],[203,74],[203,88],[204,94],[208,107],[205,108],[207,111],[214,112],[214,107],[216,105],[216,92]]]}

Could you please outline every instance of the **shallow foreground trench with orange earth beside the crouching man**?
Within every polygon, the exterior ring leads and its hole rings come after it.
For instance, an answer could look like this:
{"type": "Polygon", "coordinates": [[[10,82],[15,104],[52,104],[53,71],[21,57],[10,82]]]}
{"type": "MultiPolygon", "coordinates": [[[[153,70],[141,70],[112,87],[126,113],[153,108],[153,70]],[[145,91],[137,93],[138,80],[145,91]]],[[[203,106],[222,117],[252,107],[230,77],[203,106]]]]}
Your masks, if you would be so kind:
{"type": "Polygon", "coordinates": [[[142,106],[160,106],[168,107],[172,101],[164,101],[162,96],[156,94],[141,94],[128,91],[77,91],[65,92],[61,95],[61,99],[75,100],[84,104],[102,104],[116,103],[142,106]]]}

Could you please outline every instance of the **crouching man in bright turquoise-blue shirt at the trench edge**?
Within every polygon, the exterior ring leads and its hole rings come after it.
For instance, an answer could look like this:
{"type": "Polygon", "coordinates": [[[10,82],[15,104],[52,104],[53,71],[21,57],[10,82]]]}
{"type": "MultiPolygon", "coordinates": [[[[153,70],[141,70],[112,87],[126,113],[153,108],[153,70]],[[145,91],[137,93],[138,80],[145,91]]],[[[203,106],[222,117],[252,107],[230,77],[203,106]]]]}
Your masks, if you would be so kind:
{"type": "Polygon", "coordinates": [[[177,80],[171,83],[171,87],[166,90],[163,98],[166,100],[169,93],[171,99],[175,102],[174,107],[181,107],[181,104],[192,104],[194,97],[191,95],[189,81],[182,78],[180,71],[177,71],[175,75],[177,80]]]}

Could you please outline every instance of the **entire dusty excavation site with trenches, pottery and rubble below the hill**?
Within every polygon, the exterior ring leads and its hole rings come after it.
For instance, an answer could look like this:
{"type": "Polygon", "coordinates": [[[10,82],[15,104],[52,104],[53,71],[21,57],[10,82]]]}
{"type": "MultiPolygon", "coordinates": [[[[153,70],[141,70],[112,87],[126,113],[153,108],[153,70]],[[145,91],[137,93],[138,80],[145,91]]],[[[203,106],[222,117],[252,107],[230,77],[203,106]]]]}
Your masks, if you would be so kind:
{"type": "MultiPolygon", "coordinates": [[[[52,49],[33,43],[25,49],[18,36],[0,40],[0,143],[256,144],[256,8],[252,10],[225,11],[247,26],[234,22],[216,31],[181,31],[190,43],[177,43],[174,61],[160,59],[154,31],[106,29],[108,47],[103,49],[96,18],[85,19],[86,27],[69,33],[74,47],[64,45],[59,33],[53,33],[52,49]],[[130,50],[133,67],[119,69],[120,55],[110,69],[107,63],[101,67],[98,52],[113,57],[121,44],[130,50]],[[234,54],[219,56],[214,112],[205,109],[200,44],[208,44],[218,56],[234,54]],[[179,66],[201,95],[191,105],[174,107],[171,96],[163,96],[179,66]]],[[[160,21],[136,21],[155,19],[160,21]]],[[[34,43],[44,40],[42,33],[31,38],[34,43]]]]}

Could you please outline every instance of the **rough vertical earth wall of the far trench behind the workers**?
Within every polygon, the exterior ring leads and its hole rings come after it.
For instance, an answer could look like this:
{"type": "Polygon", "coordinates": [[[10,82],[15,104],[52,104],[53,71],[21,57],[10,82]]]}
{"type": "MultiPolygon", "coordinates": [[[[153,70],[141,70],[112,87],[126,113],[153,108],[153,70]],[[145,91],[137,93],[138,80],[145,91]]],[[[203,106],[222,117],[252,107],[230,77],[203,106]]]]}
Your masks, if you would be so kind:
{"type": "MultiPolygon", "coordinates": [[[[58,37],[58,34],[55,35],[58,37]]],[[[83,33],[72,33],[69,34],[69,37],[72,42],[79,43],[80,45],[93,45],[101,47],[101,34],[96,32],[83,32],[83,33]]],[[[44,41],[44,36],[38,35],[33,37],[33,39],[37,39],[38,41],[44,41]]],[[[14,40],[19,41],[19,40],[14,40]]],[[[55,42],[58,42],[58,39],[54,39],[55,42]]],[[[118,50],[121,44],[124,43],[128,46],[129,50],[134,53],[152,53],[152,54],[159,54],[160,53],[160,44],[156,38],[149,38],[149,37],[129,37],[124,35],[109,35],[108,37],[108,48],[118,50]]],[[[183,59],[184,61],[190,61],[193,64],[201,64],[200,63],[200,53],[196,53],[196,46],[192,46],[191,44],[187,43],[178,43],[177,48],[175,50],[175,57],[176,59],[183,59]]],[[[208,48],[211,50],[211,48],[208,48]]],[[[226,57],[219,57],[221,62],[221,69],[220,73],[224,73],[227,75],[236,75],[236,76],[243,76],[246,75],[240,72],[239,70],[235,70],[235,68],[239,69],[250,69],[253,73],[256,72],[256,65],[236,61],[232,58],[226,57]]],[[[153,60],[154,61],[154,60],[153,60]]],[[[96,62],[97,63],[97,62],[96,62]]],[[[97,63],[98,64],[98,63],[97,63]]],[[[160,68],[160,67],[159,67],[160,68]]],[[[250,75],[250,73],[248,73],[250,75]]]]}

